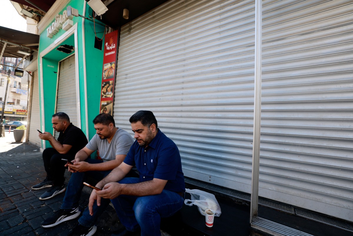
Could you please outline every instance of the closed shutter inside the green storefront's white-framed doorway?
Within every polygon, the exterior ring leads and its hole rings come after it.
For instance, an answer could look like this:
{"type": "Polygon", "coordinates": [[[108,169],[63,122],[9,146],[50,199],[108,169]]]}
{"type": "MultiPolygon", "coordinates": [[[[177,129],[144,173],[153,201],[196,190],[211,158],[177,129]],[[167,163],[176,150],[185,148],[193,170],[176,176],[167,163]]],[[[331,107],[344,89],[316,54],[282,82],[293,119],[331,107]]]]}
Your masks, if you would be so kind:
{"type": "MultiPolygon", "coordinates": [[[[56,112],[65,112],[70,117],[70,122],[77,126],[77,98],[76,98],[76,75],[75,56],[72,55],[60,61],[58,97],[56,112]]],[[[55,138],[59,133],[55,132],[55,138]]]]}

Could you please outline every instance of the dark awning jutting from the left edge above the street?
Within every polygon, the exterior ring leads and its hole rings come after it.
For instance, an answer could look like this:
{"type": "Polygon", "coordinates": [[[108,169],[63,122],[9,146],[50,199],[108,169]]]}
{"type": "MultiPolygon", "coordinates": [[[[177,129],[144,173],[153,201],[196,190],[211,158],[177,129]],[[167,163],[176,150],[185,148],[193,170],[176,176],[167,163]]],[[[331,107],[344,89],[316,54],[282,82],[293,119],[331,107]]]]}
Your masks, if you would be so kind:
{"type": "Polygon", "coordinates": [[[37,51],[39,35],[0,26],[0,53],[5,43],[6,47],[2,55],[3,57],[22,58],[25,54],[18,51],[25,53],[37,51]]]}

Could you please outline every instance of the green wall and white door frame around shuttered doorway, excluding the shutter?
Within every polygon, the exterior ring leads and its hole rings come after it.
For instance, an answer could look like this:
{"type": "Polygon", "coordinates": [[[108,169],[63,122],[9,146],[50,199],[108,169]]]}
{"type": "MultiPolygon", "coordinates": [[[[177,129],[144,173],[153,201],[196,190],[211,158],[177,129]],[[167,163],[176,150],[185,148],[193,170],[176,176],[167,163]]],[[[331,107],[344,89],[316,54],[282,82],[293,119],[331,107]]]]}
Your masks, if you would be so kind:
{"type": "MultiPolygon", "coordinates": [[[[94,26],[91,20],[82,17],[73,17],[73,26],[70,29],[67,31],[60,29],[52,38],[48,37],[47,28],[55,21],[55,16],[62,14],[67,6],[77,9],[78,13],[83,16],[92,16],[92,9],[84,0],[58,0],[52,7],[54,9],[51,8],[49,10],[52,12],[52,19],[48,18],[46,20],[48,24],[43,26],[44,30],[40,33],[38,49],[41,128],[53,133],[52,115],[55,113],[59,62],[72,54],[77,54],[75,57],[76,75],[78,75],[79,82],[79,89],[77,91],[79,93],[78,106],[80,110],[80,119],[78,122],[80,122],[82,131],[91,139],[95,134],[92,120],[99,113],[103,67],[103,50],[94,47],[95,35],[102,38],[105,28],[97,24],[97,21],[94,26]],[[58,5],[63,7],[55,12],[54,9],[58,5]],[[63,44],[74,45],[74,51],[67,54],[56,50],[56,48],[63,44]]],[[[42,143],[42,148],[46,147],[50,147],[48,141],[46,141],[45,146],[42,143]]]]}

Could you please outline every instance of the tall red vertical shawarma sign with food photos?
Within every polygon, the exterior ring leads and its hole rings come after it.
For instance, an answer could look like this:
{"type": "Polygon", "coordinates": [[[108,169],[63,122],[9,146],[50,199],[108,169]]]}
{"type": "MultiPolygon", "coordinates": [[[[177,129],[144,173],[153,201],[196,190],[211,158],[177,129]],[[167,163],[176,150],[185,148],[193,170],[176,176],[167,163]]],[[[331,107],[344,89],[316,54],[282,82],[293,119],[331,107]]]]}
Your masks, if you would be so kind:
{"type": "Polygon", "coordinates": [[[105,35],[100,113],[113,115],[115,64],[118,49],[118,30],[105,35]]]}

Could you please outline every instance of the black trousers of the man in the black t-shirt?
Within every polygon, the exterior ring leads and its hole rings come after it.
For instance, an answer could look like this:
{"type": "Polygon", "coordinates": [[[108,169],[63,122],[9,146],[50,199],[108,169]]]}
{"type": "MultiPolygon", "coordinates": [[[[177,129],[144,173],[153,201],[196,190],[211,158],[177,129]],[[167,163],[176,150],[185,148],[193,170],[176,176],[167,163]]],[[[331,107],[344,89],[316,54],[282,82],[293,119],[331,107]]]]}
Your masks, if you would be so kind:
{"type": "Polygon", "coordinates": [[[54,182],[55,186],[64,185],[65,162],[61,159],[69,161],[75,158],[74,155],[60,154],[54,148],[46,148],[42,154],[44,169],[47,172],[47,178],[54,182]]]}

